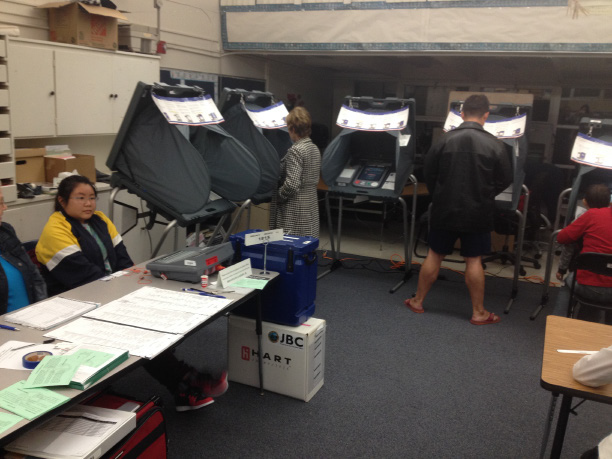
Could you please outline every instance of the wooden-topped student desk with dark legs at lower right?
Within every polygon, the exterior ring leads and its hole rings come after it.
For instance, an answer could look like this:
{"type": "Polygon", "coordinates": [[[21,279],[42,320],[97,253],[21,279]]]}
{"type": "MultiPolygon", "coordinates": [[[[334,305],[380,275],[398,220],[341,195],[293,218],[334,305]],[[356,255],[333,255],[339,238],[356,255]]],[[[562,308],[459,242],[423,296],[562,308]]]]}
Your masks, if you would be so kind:
{"type": "Polygon", "coordinates": [[[555,404],[559,394],[563,395],[563,399],[550,454],[550,457],[553,458],[558,458],[561,455],[573,397],[612,404],[612,384],[593,388],[584,386],[574,379],[572,375],[573,366],[584,355],[562,354],[557,352],[557,349],[598,351],[610,345],[612,345],[612,326],[560,316],[548,316],[546,318],[546,335],[544,338],[540,384],[544,389],[551,391],[553,397],[540,457],[543,457],[546,451],[550,424],[554,416],[555,404]]]}

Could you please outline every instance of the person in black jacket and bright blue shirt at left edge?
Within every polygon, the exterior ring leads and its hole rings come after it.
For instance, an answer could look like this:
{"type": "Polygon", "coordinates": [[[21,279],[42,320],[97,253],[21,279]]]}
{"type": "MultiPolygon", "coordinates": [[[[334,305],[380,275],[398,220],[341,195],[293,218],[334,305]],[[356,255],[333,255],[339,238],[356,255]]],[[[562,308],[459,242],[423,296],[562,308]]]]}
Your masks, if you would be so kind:
{"type": "Polygon", "coordinates": [[[11,225],[2,222],[6,210],[0,190],[0,314],[47,298],[47,286],[11,225]]]}

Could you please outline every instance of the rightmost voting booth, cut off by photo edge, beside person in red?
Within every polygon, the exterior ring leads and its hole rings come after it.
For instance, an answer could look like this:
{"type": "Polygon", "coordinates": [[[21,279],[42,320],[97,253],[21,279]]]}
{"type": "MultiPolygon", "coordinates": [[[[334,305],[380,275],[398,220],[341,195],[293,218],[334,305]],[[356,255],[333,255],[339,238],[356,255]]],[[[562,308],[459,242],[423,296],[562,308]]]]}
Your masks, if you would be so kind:
{"type": "Polygon", "coordinates": [[[557,219],[548,244],[548,258],[542,284],[540,304],[531,313],[534,320],[542,308],[548,304],[548,290],[552,275],[553,249],[557,234],[562,226],[569,225],[575,218],[578,201],[586,189],[596,183],[603,183],[612,189],[612,119],[596,119],[584,117],[580,120],[579,131],[574,140],[570,159],[578,165],[572,187],[564,190],[557,203],[557,219]],[[565,222],[561,226],[561,210],[567,199],[565,222]]]}

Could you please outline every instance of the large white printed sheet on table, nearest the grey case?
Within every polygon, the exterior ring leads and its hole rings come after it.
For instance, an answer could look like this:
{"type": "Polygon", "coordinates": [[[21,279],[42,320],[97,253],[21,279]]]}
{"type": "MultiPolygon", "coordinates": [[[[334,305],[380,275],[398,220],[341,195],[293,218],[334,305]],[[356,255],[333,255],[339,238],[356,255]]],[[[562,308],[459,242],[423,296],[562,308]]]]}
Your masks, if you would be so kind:
{"type": "Polygon", "coordinates": [[[187,333],[224,309],[231,299],[142,287],[85,317],[168,333],[187,333]]]}

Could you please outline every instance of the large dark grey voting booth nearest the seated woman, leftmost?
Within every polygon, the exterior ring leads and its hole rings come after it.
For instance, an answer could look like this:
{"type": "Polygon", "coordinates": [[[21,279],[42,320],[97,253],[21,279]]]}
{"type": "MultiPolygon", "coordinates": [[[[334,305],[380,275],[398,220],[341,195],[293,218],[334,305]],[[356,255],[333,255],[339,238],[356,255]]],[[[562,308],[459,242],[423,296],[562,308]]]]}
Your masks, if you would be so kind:
{"type": "MultiPolygon", "coordinates": [[[[117,192],[126,189],[171,223],[220,224],[260,190],[262,167],[219,124],[221,114],[198,87],[138,83],[106,165],[111,169],[111,218],[117,192]]],[[[141,215],[139,215],[140,217],[141,215]]],[[[216,230],[217,231],[217,230],[216,230]]],[[[211,238],[212,239],[212,238],[211,238]]]]}

